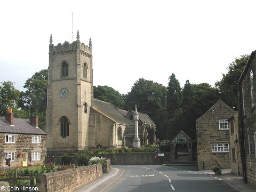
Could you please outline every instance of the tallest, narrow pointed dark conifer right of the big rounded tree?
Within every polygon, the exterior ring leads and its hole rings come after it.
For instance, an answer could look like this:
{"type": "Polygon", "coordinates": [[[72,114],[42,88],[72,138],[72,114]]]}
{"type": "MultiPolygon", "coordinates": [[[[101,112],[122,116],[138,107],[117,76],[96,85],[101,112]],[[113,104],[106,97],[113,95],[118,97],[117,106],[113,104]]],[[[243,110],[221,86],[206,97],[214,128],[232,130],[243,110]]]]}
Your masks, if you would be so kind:
{"type": "Polygon", "coordinates": [[[174,116],[176,110],[179,109],[181,102],[181,87],[174,73],[169,77],[169,83],[166,92],[167,113],[169,118],[174,116]]]}

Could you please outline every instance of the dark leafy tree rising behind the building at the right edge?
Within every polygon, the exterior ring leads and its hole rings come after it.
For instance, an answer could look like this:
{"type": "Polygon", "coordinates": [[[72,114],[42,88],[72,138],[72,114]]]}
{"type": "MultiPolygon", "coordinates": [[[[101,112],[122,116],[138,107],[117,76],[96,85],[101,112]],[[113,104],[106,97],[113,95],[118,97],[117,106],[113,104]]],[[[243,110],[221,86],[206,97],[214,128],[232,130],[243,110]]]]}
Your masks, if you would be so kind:
{"type": "Polygon", "coordinates": [[[227,67],[228,73],[222,74],[222,79],[215,83],[215,87],[221,94],[221,99],[229,107],[238,106],[237,82],[243,73],[244,67],[249,57],[249,54],[245,54],[240,55],[239,58],[235,58],[235,61],[229,63],[229,66],[227,67]]]}

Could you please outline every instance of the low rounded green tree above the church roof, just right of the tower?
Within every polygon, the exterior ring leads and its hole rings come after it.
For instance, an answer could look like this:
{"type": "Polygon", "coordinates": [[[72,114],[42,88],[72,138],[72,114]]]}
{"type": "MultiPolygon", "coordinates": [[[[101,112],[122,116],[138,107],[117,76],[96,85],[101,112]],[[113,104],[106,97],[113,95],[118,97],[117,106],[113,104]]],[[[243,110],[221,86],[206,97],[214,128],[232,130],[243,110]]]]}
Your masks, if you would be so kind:
{"type": "Polygon", "coordinates": [[[117,108],[122,108],[123,106],[122,94],[106,85],[93,86],[93,97],[94,99],[110,102],[117,108]]]}

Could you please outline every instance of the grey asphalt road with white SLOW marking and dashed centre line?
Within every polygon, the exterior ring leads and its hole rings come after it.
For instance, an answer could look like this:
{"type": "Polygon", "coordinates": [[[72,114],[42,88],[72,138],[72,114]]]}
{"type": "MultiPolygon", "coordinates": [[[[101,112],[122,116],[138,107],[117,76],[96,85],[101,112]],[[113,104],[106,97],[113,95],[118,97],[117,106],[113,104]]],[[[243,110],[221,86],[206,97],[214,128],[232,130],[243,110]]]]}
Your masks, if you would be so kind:
{"type": "Polygon", "coordinates": [[[237,191],[218,177],[196,171],[195,166],[111,165],[111,167],[123,169],[124,174],[107,189],[108,192],[237,191]]]}

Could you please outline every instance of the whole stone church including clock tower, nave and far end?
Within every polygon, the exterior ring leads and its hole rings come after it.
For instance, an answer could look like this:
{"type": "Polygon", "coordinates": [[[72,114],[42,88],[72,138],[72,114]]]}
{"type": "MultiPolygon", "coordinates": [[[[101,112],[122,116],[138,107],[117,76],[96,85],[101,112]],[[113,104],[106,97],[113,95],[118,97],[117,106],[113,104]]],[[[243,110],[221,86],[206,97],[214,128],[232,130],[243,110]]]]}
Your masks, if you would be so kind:
{"type": "MultiPolygon", "coordinates": [[[[46,109],[47,150],[132,147],[133,110],[93,98],[92,42],[49,45],[46,109]]],[[[156,125],[139,113],[141,146],[156,142],[156,125]]]]}

